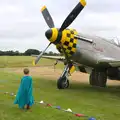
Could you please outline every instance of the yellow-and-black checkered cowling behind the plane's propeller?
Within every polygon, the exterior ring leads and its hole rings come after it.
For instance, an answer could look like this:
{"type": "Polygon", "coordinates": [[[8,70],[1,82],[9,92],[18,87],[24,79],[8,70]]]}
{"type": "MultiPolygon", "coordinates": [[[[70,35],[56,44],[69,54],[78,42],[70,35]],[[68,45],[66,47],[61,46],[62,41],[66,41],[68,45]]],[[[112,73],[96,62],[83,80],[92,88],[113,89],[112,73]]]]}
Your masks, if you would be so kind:
{"type": "MultiPolygon", "coordinates": [[[[75,38],[75,35],[77,34],[77,31],[74,29],[66,29],[62,32],[62,38],[60,42],[68,57],[72,56],[76,52],[77,39],[75,38]]],[[[56,48],[59,52],[63,53],[59,43],[56,44],[56,48]]]]}

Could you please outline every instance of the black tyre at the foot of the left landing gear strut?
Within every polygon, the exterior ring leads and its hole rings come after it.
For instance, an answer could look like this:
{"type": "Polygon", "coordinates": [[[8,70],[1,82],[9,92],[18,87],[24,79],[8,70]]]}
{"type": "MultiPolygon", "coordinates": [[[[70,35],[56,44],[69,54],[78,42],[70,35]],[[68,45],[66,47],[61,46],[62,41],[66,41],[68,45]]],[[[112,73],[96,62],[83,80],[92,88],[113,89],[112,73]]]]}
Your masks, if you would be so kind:
{"type": "Polygon", "coordinates": [[[60,77],[57,81],[57,88],[58,89],[65,89],[69,87],[69,80],[67,79],[67,77],[60,77]]]}

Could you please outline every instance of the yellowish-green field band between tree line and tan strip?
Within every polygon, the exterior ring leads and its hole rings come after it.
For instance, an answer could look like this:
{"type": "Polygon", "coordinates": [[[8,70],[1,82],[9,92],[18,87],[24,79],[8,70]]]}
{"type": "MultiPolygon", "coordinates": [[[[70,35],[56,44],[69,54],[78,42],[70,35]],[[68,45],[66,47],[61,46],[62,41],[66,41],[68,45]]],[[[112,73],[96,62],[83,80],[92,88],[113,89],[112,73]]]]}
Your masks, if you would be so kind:
{"type": "MultiPolygon", "coordinates": [[[[30,67],[33,66],[32,61],[35,57],[32,56],[0,56],[0,68],[4,67],[30,67]]],[[[36,66],[53,66],[55,60],[42,58],[36,66]]],[[[63,68],[63,63],[56,65],[56,68],[63,68]]]]}

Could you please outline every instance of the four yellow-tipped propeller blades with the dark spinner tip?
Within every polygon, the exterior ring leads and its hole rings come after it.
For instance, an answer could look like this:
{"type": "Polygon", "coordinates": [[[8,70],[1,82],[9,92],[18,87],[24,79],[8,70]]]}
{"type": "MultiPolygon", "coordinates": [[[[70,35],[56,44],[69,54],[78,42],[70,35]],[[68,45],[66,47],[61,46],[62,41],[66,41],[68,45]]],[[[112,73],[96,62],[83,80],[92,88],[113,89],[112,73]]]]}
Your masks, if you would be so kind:
{"type": "MultiPolygon", "coordinates": [[[[66,29],[74,20],[75,18],[78,16],[78,14],[82,11],[82,9],[85,7],[86,2],[85,0],[80,0],[80,2],[75,6],[75,8],[72,10],[72,12],[66,17],[66,19],[64,20],[63,24],[61,25],[59,31],[58,31],[58,35],[62,35],[62,31],[64,29],[66,29]]],[[[47,23],[47,25],[49,26],[49,30],[46,31],[45,35],[47,37],[47,39],[50,39],[51,37],[53,37],[53,33],[52,33],[52,28],[54,28],[54,22],[53,19],[48,11],[48,9],[46,8],[46,6],[43,6],[41,9],[42,15],[47,23]]],[[[56,34],[55,34],[55,37],[56,34]]],[[[51,43],[53,43],[52,41],[50,42],[50,44],[45,48],[45,50],[36,58],[35,60],[35,64],[38,63],[38,61],[40,60],[40,58],[42,57],[42,55],[44,54],[44,52],[47,50],[47,48],[51,45],[51,43]]],[[[61,48],[65,54],[65,58],[69,64],[70,60],[68,58],[67,53],[65,52],[64,48],[62,47],[61,44],[61,48]]]]}

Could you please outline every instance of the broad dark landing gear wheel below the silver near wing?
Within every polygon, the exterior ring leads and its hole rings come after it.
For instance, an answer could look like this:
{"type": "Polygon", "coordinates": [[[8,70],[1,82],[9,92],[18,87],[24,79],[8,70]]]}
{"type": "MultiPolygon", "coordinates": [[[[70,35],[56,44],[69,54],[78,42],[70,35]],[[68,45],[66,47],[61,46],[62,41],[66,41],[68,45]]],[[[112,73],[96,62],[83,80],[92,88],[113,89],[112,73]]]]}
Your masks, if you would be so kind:
{"type": "Polygon", "coordinates": [[[105,71],[97,71],[92,70],[90,77],[89,77],[89,83],[92,86],[99,86],[99,87],[106,87],[107,82],[107,73],[105,71]]]}

